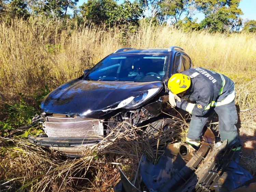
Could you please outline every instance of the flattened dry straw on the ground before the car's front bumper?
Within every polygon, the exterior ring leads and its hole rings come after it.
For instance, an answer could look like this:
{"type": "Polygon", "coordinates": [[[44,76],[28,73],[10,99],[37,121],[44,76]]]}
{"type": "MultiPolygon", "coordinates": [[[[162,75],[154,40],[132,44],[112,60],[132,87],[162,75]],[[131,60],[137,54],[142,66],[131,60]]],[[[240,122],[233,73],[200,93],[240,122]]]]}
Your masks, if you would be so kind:
{"type": "Polygon", "coordinates": [[[85,149],[81,159],[67,159],[48,148],[32,146],[21,138],[1,138],[0,152],[4,156],[0,163],[0,189],[110,191],[119,180],[118,166],[130,179],[140,183],[140,177],[133,177],[142,154],[156,161],[166,143],[175,142],[175,138],[182,136],[184,126],[186,124],[179,123],[165,134],[161,129],[146,133],[132,126],[124,132],[113,130],[110,135],[115,136],[106,137],[103,143],[85,149]]]}

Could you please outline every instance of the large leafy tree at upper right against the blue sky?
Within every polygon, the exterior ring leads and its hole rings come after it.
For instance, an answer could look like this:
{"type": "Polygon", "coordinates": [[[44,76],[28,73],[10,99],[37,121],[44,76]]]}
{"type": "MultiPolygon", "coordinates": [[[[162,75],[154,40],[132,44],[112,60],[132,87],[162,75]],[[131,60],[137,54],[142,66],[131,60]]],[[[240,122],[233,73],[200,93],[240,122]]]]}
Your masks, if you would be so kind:
{"type": "Polygon", "coordinates": [[[202,29],[209,32],[238,30],[242,25],[238,8],[240,0],[194,0],[197,9],[204,13],[202,29]]]}

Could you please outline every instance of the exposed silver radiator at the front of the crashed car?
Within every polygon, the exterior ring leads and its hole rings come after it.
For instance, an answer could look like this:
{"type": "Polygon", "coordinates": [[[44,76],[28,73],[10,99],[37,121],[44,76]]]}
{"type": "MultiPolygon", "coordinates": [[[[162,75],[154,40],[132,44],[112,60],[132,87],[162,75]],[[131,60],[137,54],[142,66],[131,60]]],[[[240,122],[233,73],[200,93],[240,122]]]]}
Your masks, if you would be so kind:
{"type": "Polygon", "coordinates": [[[46,117],[44,130],[48,137],[95,138],[103,135],[103,123],[93,118],[46,117]]]}

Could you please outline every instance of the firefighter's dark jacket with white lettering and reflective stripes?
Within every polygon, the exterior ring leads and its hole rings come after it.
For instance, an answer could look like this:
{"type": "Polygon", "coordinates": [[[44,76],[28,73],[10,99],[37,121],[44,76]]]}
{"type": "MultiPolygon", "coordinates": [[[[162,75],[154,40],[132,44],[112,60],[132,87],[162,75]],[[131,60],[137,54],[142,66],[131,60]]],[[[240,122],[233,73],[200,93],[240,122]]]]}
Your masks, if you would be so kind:
{"type": "Polygon", "coordinates": [[[193,68],[181,72],[191,78],[189,92],[183,97],[180,108],[191,115],[203,116],[211,107],[221,106],[235,99],[234,82],[223,74],[203,68],[193,68]]]}

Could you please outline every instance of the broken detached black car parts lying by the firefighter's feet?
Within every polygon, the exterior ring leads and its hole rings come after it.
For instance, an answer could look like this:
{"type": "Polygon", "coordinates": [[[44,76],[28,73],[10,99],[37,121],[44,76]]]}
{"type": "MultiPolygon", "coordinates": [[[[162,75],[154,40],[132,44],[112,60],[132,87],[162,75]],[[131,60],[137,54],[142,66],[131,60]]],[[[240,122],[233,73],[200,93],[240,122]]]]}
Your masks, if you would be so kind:
{"type": "MultiPolygon", "coordinates": [[[[142,181],[150,192],[256,191],[252,175],[231,160],[232,149],[238,147],[239,142],[229,145],[227,141],[214,142],[214,135],[208,128],[198,151],[182,142],[169,144],[156,165],[143,155],[139,167],[142,181]]],[[[128,192],[128,185],[122,176],[114,191],[128,192]],[[120,183],[125,183],[126,187],[120,183]]]]}

